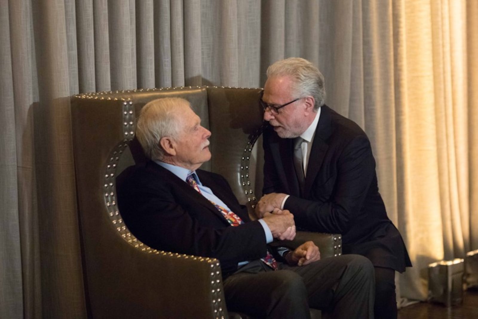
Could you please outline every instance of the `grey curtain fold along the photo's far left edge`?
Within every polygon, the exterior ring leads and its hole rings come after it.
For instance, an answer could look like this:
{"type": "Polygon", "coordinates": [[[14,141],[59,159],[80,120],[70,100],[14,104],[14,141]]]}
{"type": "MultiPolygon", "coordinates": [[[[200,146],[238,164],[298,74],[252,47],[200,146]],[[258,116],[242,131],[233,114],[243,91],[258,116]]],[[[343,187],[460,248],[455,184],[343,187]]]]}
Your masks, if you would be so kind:
{"type": "MultiPolygon", "coordinates": [[[[20,246],[20,216],[17,185],[17,145],[16,119],[12,78],[11,38],[9,4],[2,0],[1,6],[6,8],[0,12],[0,69],[5,76],[0,77],[0,127],[6,134],[0,135],[0,203],[3,205],[0,214],[0,308],[2,314],[9,318],[20,318],[23,315],[22,298],[22,254],[20,246]],[[16,298],[20,297],[20,300],[16,298]]],[[[11,8],[15,10],[16,8],[11,8]]],[[[14,23],[16,17],[11,18],[14,23]]]]}

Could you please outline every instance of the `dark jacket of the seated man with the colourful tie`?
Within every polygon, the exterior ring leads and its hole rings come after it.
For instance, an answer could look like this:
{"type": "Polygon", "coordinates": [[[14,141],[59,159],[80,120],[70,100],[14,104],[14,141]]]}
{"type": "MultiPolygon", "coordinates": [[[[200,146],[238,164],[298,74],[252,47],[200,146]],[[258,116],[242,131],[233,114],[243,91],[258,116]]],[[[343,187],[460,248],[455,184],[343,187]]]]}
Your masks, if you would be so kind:
{"type": "Polygon", "coordinates": [[[228,182],[211,172],[196,173],[244,225],[229,226],[203,195],[149,161],[130,166],[117,178],[118,205],[131,233],[157,250],[217,258],[223,274],[237,270],[238,262],[264,257],[264,230],[258,221],[250,221],[228,182]]]}

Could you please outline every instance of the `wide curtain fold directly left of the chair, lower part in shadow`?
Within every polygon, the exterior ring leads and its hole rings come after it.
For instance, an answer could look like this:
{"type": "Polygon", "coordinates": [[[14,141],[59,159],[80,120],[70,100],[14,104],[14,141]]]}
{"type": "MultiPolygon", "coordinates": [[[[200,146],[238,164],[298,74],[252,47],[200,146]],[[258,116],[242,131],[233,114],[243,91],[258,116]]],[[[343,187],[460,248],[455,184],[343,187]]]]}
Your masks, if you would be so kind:
{"type": "MultiPolygon", "coordinates": [[[[77,90],[75,32],[65,19],[74,6],[62,0],[34,1],[38,100],[33,113],[42,317],[86,316],[72,151],[70,95],[77,90]],[[72,60],[72,61],[71,61],[72,60]],[[73,85],[72,85],[73,83],[73,85]],[[67,297],[65,297],[67,296],[67,297]]],[[[14,76],[15,78],[15,76],[14,76]]],[[[24,237],[22,237],[24,239],[24,237]]],[[[35,296],[36,298],[37,296],[35,296]]]]}

